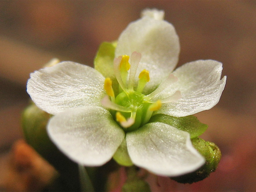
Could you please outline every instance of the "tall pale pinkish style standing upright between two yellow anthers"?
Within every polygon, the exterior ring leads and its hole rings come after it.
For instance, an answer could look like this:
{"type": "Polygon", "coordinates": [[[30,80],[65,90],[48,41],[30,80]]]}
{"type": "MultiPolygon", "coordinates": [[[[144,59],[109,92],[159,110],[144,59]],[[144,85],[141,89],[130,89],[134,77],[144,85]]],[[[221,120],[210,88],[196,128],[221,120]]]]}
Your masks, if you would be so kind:
{"type": "Polygon", "coordinates": [[[129,76],[129,82],[128,82],[128,89],[133,90],[133,83],[134,83],[134,78],[137,72],[137,68],[139,65],[141,59],[141,54],[134,51],[132,52],[131,55],[131,69],[130,69],[130,76],[129,76]]]}

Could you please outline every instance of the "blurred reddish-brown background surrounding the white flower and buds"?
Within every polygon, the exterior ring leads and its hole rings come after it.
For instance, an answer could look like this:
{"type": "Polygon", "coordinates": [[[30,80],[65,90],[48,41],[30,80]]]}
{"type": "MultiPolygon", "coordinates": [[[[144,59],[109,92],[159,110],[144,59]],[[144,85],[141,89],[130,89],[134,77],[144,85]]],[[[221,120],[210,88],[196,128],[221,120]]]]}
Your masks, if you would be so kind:
{"type": "MultiPolygon", "coordinates": [[[[202,138],[222,151],[216,172],[192,185],[149,178],[152,190],[256,190],[256,1],[1,1],[1,176],[8,172],[13,143],[23,137],[20,113],[29,101],[29,73],[54,57],[93,66],[101,42],[116,40],[141,10],[154,7],[165,11],[180,37],[178,66],[218,60],[227,84],[214,108],[196,114],[209,125],[202,138]]],[[[0,189],[26,190],[7,188],[3,178],[0,189]]]]}

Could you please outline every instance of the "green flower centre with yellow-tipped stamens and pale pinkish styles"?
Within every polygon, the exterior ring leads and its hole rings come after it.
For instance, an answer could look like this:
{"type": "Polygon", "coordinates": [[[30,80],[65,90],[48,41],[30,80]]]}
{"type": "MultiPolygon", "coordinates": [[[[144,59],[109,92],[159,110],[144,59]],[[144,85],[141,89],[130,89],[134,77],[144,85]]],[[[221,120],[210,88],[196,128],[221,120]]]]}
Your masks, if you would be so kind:
{"type": "Polygon", "coordinates": [[[118,82],[118,94],[112,87],[112,81],[108,77],[105,79],[104,89],[107,95],[102,100],[102,105],[111,109],[110,112],[116,117],[116,121],[123,127],[125,132],[138,129],[143,124],[148,123],[154,111],[161,108],[162,103],[180,99],[180,91],[175,92],[167,98],[158,99],[158,94],[170,83],[177,81],[177,77],[172,74],[158,86],[158,88],[148,95],[142,92],[149,82],[149,71],[142,70],[139,75],[138,86],[134,90],[134,79],[141,59],[141,54],[133,52],[131,55],[131,65],[129,56],[122,55],[114,60],[114,72],[118,82]],[[128,70],[130,70],[129,78],[128,70]],[[128,82],[127,82],[128,79],[128,82]],[[109,99],[111,98],[111,100],[109,99]]]}

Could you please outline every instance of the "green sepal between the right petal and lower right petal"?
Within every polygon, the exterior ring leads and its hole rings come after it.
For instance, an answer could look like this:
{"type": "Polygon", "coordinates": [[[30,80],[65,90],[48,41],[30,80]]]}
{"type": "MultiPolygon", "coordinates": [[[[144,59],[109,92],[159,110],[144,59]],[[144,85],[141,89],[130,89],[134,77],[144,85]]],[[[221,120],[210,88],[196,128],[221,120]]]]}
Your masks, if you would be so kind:
{"type": "Polygon", "coordinates": [[[169,124],[177,129],[186,131],[190,134],[190,138],[196,138],[203,134],[207,129],[208,125],[201,123],[196,116],[189,115],[185,117],[173,117],[164,114],[156,114],[149,120],[151,122],[162,122],[169,124]]]}

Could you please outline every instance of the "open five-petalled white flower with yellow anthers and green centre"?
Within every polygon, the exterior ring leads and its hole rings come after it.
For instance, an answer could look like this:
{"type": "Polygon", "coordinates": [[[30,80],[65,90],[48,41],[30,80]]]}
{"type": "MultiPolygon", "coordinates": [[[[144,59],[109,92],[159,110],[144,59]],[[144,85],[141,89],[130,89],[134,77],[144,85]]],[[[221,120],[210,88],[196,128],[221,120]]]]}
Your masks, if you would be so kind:
{"type": "Polygon", "coordinates": [[[111,67],[99,67],[104,76],[64,61],[31,73],[27,91],[39,108],[54,115],[48,134],[75,162],[105,164],[122,143],[133,164],[158,175],[178,176],[198,169],[204,158],[188,132],[148,120],[155,114],[183,117],[212,108],[226,77],[220,80],[222,64],[214,60],[190,62],[173,71],[180,52],[175,29],[162,20],[163,11],[146,10],[142,15],[119,37],[114,65],[112,61],[111,67]],[[124,55],[131,56],[130,70],[124,55]],[[112,80],[105,79],[108,76],[112,80]]]}

